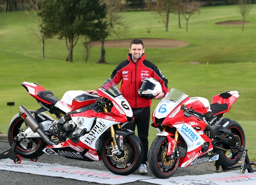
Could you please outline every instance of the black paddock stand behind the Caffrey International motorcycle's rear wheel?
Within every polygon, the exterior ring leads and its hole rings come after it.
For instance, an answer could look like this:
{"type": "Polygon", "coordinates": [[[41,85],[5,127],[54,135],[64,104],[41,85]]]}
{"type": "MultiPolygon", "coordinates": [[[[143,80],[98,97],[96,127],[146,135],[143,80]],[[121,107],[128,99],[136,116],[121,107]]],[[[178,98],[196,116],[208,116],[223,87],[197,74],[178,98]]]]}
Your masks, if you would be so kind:
{"type": "MultiPolygon", "coordinates": [[[[256,169],[252,169],[251,165],[254,164],[256,165],[256,162],[250,162],[249,157],[247,155],[247,150],[243,149],[243,157],[242,157],[242,164],[238,164],[238,165],[234,165],[234,166],[230,166],[226,169],[223,170],[229,170],[229,169],[235,169],[235,168],[240,168],[240,173],[243,174],[245,173],[246,170],[248,170],[249,173],[253,173],[256,171],[256,169]]],[[[214,170],[218,171],[220,168],[220,164],[218,163],[218,161],[215,162],[214,165],[214,170]]]]}

